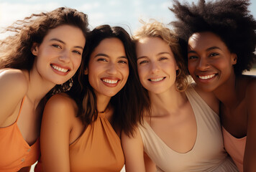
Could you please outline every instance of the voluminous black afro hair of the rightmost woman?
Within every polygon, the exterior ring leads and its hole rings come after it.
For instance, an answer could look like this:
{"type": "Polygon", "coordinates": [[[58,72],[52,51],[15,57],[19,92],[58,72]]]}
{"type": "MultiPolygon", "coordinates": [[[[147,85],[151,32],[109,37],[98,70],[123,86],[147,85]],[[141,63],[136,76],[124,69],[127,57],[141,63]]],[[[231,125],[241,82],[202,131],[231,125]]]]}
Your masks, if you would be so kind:
{"type": "Polygon", "coordinates": [[[249,5],[250,0],[198,0],[198,4],[180,4],[174,0],[169,9],[178,20],[171,24],[183,41],[183,51],[187,52],[187,42],[193,33],[213,32],[230,52],[237,54],[235,75],[250,70],[256,59],[256,21],[248,10],[249,5]]]}

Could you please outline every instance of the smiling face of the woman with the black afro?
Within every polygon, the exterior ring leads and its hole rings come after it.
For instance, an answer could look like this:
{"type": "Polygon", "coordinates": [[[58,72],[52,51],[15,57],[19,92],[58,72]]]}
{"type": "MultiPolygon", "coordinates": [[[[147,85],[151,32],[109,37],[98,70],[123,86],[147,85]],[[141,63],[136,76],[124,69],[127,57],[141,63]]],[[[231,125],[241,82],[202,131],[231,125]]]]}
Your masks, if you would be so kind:
{"type": "Polygon", "coordinates": [[[214,91],[234,75],[237,55],[212,32],[193,34],[188,39],[188,70],[205,91],[214,91]]]}

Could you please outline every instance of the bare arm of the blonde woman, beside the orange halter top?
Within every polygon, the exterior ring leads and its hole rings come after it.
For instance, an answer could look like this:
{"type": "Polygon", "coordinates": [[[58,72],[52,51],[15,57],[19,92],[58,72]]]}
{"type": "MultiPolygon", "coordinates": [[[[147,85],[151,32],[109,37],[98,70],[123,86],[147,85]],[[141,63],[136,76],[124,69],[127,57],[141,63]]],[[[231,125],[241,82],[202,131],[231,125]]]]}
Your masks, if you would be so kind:
{"type": "Polygon", "coordinates": [[[145,172],[143,142],[140,131],[134,131],[134,135],[128,136],[122,133],[122,147],[125,157],[126,172],[145,172]]]}

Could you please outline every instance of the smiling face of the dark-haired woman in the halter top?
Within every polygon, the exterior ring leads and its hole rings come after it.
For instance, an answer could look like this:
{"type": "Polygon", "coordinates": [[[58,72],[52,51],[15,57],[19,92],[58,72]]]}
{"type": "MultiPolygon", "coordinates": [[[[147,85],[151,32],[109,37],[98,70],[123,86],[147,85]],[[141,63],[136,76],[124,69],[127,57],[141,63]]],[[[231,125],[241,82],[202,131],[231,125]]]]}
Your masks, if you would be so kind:
{"type": "Polygon", "coordinates": [[[129,76],[122,41],[117,38],[103,39],[91,53],[85,73],[97,97],[112,97],[122,90],[129,76]]]}

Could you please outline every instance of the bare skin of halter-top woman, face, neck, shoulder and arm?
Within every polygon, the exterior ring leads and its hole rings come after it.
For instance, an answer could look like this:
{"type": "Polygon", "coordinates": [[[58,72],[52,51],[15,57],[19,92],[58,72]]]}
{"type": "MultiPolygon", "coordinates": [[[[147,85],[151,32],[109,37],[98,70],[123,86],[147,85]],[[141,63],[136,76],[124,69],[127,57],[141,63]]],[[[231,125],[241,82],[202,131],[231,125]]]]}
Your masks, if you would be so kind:
{"type": "MultiPolygon", "coordinates": [[[[96,94],[97,110],[106,110],[111,97],[124,87],[129,75],[122,42],[117,38],[103,39],[93,50],[85,75],[96,94]]],[[[108,108],[106,118],[111,123],[113,109],[108,108]]],[[[47,102],[40,136],[45,171],[70,171],[69,145],[85,130],[81,120],[76,118],[77,112],[76,102],[68,95],[54,95],[47,102]]],[[[120,135],[119,130],[116,133],[120,135]]]]}

